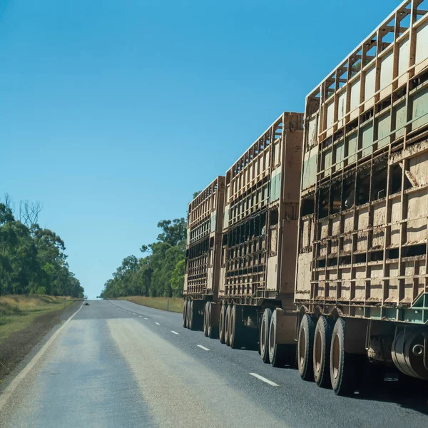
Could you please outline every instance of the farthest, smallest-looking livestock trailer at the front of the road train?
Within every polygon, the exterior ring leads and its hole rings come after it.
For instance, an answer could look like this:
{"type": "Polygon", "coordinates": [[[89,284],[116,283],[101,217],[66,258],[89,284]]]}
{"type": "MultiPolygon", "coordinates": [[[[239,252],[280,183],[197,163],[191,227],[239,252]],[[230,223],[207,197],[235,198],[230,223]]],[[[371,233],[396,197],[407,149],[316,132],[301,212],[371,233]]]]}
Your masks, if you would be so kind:
{"type": "Polygon", "coordinates": [[[218,282],[225,178],[218,176],[188,208],[183,327],[218,337],[218,282]]]}

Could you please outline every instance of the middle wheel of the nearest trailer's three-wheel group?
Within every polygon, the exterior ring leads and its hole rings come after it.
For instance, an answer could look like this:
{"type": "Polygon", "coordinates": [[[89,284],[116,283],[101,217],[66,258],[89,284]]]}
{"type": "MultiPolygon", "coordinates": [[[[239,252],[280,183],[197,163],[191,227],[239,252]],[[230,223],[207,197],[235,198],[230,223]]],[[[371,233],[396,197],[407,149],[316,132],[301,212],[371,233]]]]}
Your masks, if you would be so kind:
{"type": "Polygon", "coordinates": [[[318,318],[314,336],[314,379],[322,388],[330,388],[330,346],[332,327],[326,317],[318,318]]]}

